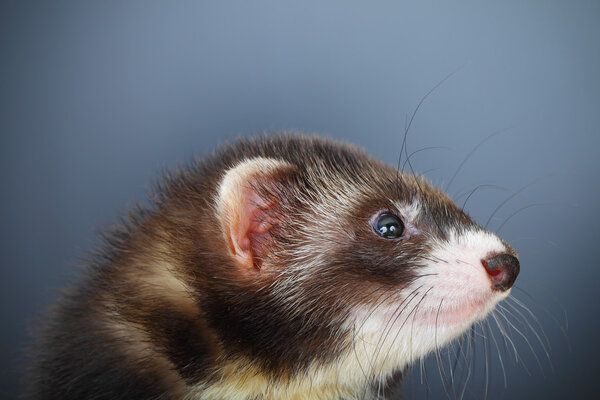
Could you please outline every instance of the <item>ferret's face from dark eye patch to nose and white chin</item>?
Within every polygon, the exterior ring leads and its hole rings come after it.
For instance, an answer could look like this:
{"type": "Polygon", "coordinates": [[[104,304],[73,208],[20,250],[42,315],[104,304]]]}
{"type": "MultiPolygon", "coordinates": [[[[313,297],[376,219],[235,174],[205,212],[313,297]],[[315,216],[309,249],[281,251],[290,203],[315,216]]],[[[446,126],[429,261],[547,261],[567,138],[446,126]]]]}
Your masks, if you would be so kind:
{"type": "Polygon", "coordinates": [[[411,175],[396,187],[355,213],[358,240],[348,250],[373,281],[391,285],[349,319],[356,348],[379,371],[459,337],[508,295],[519,272],[514,250],[439,189],[411,175]]]}

